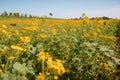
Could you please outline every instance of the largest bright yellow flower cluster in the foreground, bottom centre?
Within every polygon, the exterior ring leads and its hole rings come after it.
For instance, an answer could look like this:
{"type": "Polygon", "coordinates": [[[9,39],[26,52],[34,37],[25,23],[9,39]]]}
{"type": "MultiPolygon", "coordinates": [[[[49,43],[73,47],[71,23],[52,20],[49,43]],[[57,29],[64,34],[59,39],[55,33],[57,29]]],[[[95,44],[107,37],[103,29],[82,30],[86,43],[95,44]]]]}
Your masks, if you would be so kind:
{"type": "Polygon", "coordinates": [[[60,59],[56,59],[55,61],[52,59],[52,57],[47,52],[40,52],[36,55],[38,57],[39,61],[43,61],[47,63],[48,65],[48,71],[52,74],[61,75],[65,73],[65,68],[63,66],[63,61],[60,59]]]}

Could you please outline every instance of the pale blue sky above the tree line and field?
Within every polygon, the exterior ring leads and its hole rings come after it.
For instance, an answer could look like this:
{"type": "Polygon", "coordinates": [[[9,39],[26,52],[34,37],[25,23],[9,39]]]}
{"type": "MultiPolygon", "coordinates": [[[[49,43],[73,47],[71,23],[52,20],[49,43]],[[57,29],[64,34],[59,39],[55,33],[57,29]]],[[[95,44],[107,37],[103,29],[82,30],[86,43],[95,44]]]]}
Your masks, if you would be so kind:
{"type": "Polygon", "coordinates": [[[120,0],[0,0],[0,13],[19,12],[36,16],[79,18],[82,13],[89,17],[120,18],[120,0]]]}

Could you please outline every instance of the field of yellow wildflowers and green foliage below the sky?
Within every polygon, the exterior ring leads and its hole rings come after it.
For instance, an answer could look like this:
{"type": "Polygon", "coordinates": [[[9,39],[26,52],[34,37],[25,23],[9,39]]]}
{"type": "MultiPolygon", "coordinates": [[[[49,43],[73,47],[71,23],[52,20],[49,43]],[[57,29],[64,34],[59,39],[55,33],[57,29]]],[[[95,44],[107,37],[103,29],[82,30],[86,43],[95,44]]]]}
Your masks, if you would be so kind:
{"type": "Polygon", "coordinates": [[[118,19],[0,19],[0,80],[120,80],[118,26],[118,19]]]}

